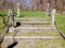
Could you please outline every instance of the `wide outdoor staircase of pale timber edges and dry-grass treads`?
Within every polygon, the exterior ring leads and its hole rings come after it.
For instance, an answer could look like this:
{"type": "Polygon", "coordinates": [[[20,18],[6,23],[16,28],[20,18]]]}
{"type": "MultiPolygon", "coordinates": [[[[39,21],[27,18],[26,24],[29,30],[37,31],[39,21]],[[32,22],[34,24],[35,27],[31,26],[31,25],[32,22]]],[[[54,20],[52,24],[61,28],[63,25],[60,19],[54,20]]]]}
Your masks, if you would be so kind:
{"type": "MultiPolygon", "coordinates": [[[[15,32],[17,32],[17,34],[14,38],[18,44],[14,48],[36,48],[39,46],[39,42],[42,43],[42,39],[46,43],[47,39],[51,39],[53,43],[54,41],[52,39],[61,38],[56,28],[52,27],[50,18],[20,18],[20,21],[21,26],[17,28],[11,28],[13,32],[8,33],[4,37],[2,48],[5,48],[9,43],[13,43],[12,38],[15,32]],[[6,43],[5,46],[3,46],[4,43],[6,43]]],[[[47,44],[51,43],[49,43],[49,41],[47,44]]],[[[42,45],[44,45],[44,43],[42,43],[42,45]]],[[[44,45],[44,47],[47,46],[44,45]]]]}

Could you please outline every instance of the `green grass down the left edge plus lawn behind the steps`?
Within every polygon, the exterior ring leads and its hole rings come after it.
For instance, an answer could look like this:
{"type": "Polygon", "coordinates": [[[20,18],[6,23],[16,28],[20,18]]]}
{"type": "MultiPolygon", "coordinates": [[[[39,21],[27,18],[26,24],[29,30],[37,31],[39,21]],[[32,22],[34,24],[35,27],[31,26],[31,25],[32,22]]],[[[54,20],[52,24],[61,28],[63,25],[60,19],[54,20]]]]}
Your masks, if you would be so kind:
{"type": "MultiPolygon", "coordinates": [[[[2,23],[2,17],[5,18],[5,21],[8,19],[8,13],[6,12],[0,12],[0,32],[4,32],[3,29],[5,28],[2,23]]],[[[46,17],[46,14],[43,12],[21,12],[20,17],[35,17],[35,18],[43,18],[46,17]]]]}

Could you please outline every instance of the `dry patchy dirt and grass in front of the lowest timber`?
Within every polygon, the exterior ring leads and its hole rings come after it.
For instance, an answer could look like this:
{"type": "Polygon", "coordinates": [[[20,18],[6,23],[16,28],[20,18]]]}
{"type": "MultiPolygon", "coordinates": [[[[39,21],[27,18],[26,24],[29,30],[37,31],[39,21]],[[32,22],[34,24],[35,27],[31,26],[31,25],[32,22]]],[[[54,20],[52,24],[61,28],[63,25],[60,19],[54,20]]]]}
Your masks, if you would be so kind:
{"type": "MultiPolygon", "coordinates": [[[[14,48],[65,48],[64,39],[16,39],[16,42],[14,48]]],[[[1,46],[6,48],[12,43],[12,39],[4,41],[1,46]]]]}

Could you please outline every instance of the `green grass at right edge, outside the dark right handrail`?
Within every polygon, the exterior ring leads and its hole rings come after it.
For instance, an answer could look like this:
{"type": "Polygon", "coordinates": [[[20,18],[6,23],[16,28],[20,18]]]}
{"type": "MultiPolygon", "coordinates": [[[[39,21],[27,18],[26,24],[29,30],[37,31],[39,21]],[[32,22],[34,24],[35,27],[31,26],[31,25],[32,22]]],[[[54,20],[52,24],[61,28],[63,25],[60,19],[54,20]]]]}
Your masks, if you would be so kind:
{"type": "Polygon", "coordinates": [[[56,15],[55,18],[58,30],[65,34],[65,15],[56,15]]]}

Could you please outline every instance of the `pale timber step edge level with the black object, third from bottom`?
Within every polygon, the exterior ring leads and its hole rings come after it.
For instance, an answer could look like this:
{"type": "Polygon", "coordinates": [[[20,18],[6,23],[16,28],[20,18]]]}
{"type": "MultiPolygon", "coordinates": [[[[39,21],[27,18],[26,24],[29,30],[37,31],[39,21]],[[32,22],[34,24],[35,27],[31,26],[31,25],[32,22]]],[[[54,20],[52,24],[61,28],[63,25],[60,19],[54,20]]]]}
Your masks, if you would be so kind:
{"type": "MultiPolygon", "coordinates": [[[[21,25],[51,25],[51,21],[20,21],[21,25]]],[[[14,22],[16,23],[16,21],[14,22]]]]}

